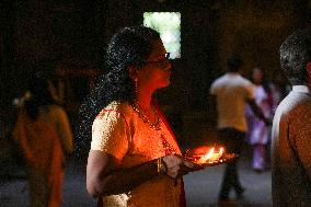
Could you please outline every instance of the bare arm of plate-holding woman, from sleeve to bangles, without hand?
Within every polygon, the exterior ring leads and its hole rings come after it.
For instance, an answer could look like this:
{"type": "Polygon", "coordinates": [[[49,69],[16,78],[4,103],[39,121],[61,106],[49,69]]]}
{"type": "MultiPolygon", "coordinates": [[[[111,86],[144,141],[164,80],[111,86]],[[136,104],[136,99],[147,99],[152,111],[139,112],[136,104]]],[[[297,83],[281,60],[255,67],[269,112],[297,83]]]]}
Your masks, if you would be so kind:
{"type": "Polygon", "coordinates": [[[97,150],[90,151],[87,189],[91,196],[126,193],[158,175],[157,160],[129,169],[118,168],[119,163],[111,154],[97,150]]]}

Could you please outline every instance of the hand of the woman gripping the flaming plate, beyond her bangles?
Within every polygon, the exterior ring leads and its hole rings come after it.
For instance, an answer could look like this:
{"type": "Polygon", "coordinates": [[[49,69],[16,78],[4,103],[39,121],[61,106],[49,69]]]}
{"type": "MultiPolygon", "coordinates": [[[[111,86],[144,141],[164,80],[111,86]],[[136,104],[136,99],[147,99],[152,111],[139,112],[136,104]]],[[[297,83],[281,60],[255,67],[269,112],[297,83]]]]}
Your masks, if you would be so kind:
{"type": "Polygon", "coordinates": [[[184,160],[182,156],[170,154],[162,158],[165,165],[165,173],[172,179],[178,179],[188,172],[203,170],[204,168],[184,160]]]}

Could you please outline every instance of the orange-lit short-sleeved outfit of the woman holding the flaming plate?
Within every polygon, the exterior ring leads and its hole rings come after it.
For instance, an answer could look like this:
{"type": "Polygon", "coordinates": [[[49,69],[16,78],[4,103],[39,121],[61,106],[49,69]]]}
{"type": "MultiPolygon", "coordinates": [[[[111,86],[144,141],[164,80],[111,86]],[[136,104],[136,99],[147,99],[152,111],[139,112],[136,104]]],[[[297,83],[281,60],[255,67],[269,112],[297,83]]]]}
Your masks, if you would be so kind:
{"type": "MultiPolygon", "coordinates": [[[[163,137],[173,150],[181,154],[163,115],[160,126],[160,130],[151,129],[130,104],[113,102],[93,122],[91,150],[113,154],[122,160],[120,168],[131,168],[168,154],[162,145],[163,137]]],[[[128,193],[100,197],[97,206],[183,207],[183,183],[182,180],[175,183],[166,175],[159,175],[128,193]]]]}

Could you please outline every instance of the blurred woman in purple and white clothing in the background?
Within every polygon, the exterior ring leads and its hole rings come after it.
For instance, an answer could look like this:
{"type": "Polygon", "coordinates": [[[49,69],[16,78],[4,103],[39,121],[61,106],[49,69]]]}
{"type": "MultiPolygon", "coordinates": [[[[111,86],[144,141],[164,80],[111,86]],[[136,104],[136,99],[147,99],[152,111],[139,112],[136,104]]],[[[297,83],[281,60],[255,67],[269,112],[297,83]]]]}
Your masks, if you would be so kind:
{"type": "MultiPolygon", "coordinates": [[[[272,119],[278,104],[276,88],[264,79],[264,72],[258,67],[253,69],[251,80],[254,83],[256,104],[264,116],[272,119]]],[[[253,149],[253,169],[256,172],[263,172],[268,161],[266,150],[270,138],[270,127],[258,118],[249,105],[246,106],[246,120],[247,138],[253,149]]]]}

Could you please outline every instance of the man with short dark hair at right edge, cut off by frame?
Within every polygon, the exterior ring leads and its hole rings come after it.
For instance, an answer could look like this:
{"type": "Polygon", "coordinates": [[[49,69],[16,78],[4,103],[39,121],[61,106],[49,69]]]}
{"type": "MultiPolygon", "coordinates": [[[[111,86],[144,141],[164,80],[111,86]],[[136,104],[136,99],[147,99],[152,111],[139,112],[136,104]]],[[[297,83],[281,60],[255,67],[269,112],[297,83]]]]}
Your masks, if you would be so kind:
{"type": "Polygon", "coordinates": [[[292,85],[278,105],[272,133],[274,207],[311,205],[311,30],[280,46],[280,67],[292,85]]]}

